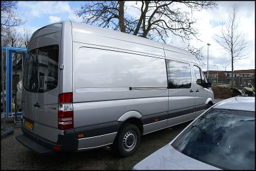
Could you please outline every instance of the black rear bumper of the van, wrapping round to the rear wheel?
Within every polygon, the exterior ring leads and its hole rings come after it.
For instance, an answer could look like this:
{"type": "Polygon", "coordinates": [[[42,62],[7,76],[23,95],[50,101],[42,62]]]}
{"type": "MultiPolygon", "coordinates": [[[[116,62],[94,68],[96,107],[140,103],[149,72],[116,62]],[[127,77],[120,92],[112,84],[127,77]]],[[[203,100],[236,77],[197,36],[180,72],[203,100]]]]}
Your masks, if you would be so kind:
{"type": "Polygon", "coordinates": [[[58,134],[57,142],[42,138],[32,131],[28,131],[22,125],[21,129],[24,134],[16,136],[16,139],[27,148],[42,155],[56,152],[53,146],[60,147],[60,151],[84,151],[112,144],[121,123],[123,122],[116,121],[113,123],[69,129],[64,131],[64,134],[58,134]],[[75,138],[77,134],[84,134],[85,137],[77,139],[75,138]]]}

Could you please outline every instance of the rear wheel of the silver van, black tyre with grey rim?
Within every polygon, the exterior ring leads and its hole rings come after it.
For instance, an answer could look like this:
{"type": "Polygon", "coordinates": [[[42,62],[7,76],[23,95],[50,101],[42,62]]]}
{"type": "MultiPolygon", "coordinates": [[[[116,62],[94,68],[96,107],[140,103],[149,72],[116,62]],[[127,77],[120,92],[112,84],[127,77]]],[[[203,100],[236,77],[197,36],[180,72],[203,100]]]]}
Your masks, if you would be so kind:
{"type": "Polygon", "coordinates": [[[140,130],[136,125],[126,123],[121,128],[114,142],[116,155],[128,157],[133,155],[140,144],[140,130]]]}

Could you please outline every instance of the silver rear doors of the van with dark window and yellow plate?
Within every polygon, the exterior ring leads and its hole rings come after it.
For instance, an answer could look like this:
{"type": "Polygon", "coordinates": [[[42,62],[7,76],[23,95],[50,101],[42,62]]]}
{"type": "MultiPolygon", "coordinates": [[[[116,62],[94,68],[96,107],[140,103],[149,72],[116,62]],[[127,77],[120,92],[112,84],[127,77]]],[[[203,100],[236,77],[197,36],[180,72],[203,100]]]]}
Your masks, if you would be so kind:
{"type": "Polygon", "coordinates": [[[39,29],[32,36],[24,62],[23,125],[53,142],[58,140],[60,41],[61,23],[39,29]]]}

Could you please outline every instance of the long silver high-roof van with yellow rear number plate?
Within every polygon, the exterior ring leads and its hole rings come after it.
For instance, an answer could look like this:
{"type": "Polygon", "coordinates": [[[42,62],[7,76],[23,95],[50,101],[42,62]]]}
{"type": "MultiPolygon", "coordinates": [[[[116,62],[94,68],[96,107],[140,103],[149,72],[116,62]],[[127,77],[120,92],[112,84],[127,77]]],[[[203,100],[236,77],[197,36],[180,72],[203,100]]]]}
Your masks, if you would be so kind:
{"type": "Polygon", "coordinates": [[[33,33],[24,62],[22,131],[41,154],[113,146],[135,153],[140,136],[192,120],[213,104],[189,52],[77,22],[33,33]]]}

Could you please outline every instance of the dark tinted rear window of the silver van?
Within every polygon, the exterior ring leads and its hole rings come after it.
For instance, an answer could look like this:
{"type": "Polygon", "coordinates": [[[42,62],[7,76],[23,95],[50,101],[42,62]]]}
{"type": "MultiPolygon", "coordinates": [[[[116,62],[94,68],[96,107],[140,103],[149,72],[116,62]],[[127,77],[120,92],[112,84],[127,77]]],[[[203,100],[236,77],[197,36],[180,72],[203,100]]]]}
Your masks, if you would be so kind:
{"type": "Polygon", "coordinates": [[[58,44],[30,50],[24,62],[23,87],[44,93],[58,85],[58,44]]]}

